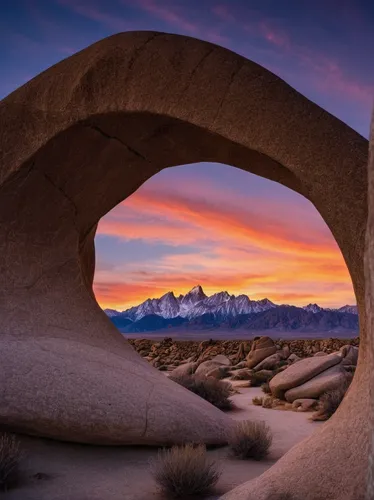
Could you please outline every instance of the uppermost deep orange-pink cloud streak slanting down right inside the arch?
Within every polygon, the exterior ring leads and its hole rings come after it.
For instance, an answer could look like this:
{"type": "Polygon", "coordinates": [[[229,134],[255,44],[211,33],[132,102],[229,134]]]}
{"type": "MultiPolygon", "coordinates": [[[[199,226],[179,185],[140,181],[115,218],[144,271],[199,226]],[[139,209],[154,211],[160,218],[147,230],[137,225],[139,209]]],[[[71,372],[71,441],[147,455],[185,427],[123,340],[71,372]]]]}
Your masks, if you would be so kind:
{"type": "MultiPolygon", "coordinates": [[[[295,228],[248,208],[243,211],[229,205],[218,206],[202,199],[191,200],[178,194],[146,189],[139,190],[136,196],[133,195],[125,203],[132,209],[173,217],[174,220],[188,224],[187,234],[192,234],[189,230],[192,231],[194,226],[204,229],[205,238],[218,237],[224,241],[230,239],[277,253],[304,256],[318,254],[319,258],[336,257],[338,254],[334,240],[327,239],[321,231],[313,233],[312,229],[308,240],[302,241],[301,238],[295,238],[295,228]]],[[[99,231],[101,230],[100,226],[99,231]]],[[[162,229],[158,228],[159,230],[162,229]]],[[[305,236],[305,231],[302,234],[305,236]]],[[[196,233],[196,236],[201,238],[201,233],[196,233]]],[[[180,238],[183,240],[182,233],[180,238]]]]}

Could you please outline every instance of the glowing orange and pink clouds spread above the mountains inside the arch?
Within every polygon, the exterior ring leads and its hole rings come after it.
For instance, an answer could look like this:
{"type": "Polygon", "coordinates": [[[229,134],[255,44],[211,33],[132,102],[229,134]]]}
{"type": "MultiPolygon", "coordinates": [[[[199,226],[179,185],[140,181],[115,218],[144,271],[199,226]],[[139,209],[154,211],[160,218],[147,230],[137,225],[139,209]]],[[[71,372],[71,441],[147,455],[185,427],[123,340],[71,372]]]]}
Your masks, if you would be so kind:
{"type": "MultiPolygon", "coordinates": [[[[306,299],[325,305],[353,301],[344,260],[322,222],[320,228],[311,227],[302,212],[299,221],[287,215],[279,219],[264,210],[264,202],[257,206],[257,199],[247,200],[244,210],[232,199],[208,202],[198,190],[184,187],[185,194],[143,186],[100,222],[101,235],[196,249],[150,258],[141,269],[131,262],[113,271],[98,268],[95,291],[103,305],[125,308],[149,295],[186,293],[196,283],[202,283],[207,293],[228,289],[255,299],[292,298],[299,305],[306,299]]],[[[207,192],[214,200],[213,188],[207,192]]],[[[272,213],[284,215],[279,203],[275,207],[273,202],[272,213]]]]}

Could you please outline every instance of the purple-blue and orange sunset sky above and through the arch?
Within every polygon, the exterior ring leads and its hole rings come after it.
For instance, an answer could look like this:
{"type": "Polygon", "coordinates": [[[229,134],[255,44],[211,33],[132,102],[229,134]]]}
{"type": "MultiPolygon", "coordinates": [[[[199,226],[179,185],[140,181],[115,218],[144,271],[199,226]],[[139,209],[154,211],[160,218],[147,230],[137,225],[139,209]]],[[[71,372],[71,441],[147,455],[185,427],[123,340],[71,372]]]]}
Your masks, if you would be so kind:
{"type": "MultiPolygon", "coordinates": [[[[374,96],[372,0],[0,0],[0,99],[121,31],[222,45],[283,78],[368,137],[374,96]]],[[[234,167],[178,166],[99,223],[94,291],[125,309],[196,284],[276,303],[355,303],[343,257],[316,209],[234,167]]]]}

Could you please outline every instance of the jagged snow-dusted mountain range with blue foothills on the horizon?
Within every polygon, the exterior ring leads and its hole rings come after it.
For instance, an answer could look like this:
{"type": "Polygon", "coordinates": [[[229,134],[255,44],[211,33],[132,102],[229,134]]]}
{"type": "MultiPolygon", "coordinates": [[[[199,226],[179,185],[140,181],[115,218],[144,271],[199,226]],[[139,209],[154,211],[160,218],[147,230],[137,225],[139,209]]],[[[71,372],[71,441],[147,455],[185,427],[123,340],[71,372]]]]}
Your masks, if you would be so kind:
{"type": "Polygon", "coordinates": [[[125,311],[105,309],[104,312],[123,333],[169,328],[358,332],[357,306],[327,309],[318,304],[277,305],[266,298],[251,300],[247,295],[235,296],[226,291],[207,296],[200,285],[186,295],[176,297],[168,292],[125,311]]]}

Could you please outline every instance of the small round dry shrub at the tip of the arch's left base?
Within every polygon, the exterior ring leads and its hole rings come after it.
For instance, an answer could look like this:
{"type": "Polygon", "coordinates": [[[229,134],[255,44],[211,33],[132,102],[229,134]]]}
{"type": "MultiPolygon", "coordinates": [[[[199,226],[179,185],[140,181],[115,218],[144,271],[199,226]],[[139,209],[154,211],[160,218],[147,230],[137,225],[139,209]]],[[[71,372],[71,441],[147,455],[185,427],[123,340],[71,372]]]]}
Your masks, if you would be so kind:
{"type": "Polygon", "coordinates": [[[261,460],[268,455],[272,440],[270,427],[265,422],[243,420],[233,429],[229,447],[237,458],[261,460]]]}

